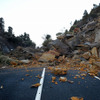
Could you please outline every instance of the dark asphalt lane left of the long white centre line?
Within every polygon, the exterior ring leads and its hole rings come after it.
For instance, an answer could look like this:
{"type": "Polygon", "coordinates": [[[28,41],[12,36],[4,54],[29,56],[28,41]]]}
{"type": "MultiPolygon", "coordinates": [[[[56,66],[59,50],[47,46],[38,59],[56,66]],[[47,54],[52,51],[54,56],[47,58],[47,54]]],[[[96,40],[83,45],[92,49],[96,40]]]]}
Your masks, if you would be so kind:
{"type": "Polygon", "coordinates": [[[42,69],[3,69],[0,70],[0,100],[34,100],[37,88],[30,88],[38,83],[36,78],[42,69]],[[30,76],[25,76],[29,74],[30,76]],[[22,81],[22,78],[24,80],[22,81]]]}

